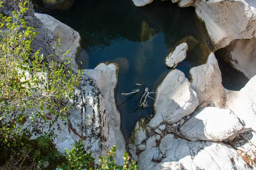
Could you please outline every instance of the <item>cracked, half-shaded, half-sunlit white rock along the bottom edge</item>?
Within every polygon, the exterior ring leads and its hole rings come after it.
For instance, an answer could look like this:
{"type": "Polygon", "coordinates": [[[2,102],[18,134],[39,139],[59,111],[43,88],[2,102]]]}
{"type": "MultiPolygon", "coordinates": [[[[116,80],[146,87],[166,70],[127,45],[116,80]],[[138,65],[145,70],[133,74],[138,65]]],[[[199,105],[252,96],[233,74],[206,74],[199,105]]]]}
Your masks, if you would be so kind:
{"type": "Polygon", "coordinates": [[[164,153],[160,163],[154,161],[157,150],[140,153],[140,170],[252,170],[232,146],[223,143],[189,142],[169,134],[160,142],[160,153],[164,153]]]}

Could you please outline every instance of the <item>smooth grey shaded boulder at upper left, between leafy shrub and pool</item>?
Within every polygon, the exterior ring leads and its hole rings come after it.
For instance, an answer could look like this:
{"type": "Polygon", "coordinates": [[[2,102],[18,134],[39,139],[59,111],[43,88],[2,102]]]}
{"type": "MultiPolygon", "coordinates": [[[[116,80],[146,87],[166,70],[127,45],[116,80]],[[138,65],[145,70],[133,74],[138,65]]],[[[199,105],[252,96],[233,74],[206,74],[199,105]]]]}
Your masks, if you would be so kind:
{"type": "Polygon", "coordinates": [[[41,20],[43,25],[46,26],[56,40],[61,39],[62,52],[70,50],[65,57],[70,59],[70,64],[73,65],[74,68],[77,68],[76,57],[78,57],[81,48],[81,37],[79,33],[47,14],[35,13],[35,17],[41,20]]]}

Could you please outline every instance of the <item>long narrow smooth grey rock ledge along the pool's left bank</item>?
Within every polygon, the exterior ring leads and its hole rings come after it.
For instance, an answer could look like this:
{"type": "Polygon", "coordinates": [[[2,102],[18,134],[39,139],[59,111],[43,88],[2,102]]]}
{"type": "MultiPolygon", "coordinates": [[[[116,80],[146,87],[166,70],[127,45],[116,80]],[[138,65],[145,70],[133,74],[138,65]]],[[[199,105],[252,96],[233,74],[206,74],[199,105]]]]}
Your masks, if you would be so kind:
{"type": "MultiPolygon", "coordinates": [[[[125,152],[125,139],[120,130],[121,119],[120,113],[116,108],[114,94],[114,89],[117,85],[118,64],[112,63],[107,65],[101,63],[97,65],[95,69],[102,71],[102,73],[97,76],[101,77],[97,82],[104,96],[106,111],[109,113],[109,145],[110,147],[114,144],[116,145],[116,163],[121,165],[123,163],[122,155],[125,152]]],[[[84,72],[87,73],[87,71],[84,72]]]]}

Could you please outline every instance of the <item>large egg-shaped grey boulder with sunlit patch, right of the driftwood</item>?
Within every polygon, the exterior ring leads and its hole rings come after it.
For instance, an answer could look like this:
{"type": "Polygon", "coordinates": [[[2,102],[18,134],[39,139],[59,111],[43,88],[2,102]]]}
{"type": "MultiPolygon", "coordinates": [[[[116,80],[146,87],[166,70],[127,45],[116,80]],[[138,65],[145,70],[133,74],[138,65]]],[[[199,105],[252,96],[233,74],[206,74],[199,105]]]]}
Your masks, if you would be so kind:
{"type": "Polygon", "coordinates": [[[161,122],[173,124],[192,113],[198,106],[198,98],[189,80],[179,70],[172,70],[157,88],[154,103],[155,116],[149,122],[156,128],[161,122]]]}

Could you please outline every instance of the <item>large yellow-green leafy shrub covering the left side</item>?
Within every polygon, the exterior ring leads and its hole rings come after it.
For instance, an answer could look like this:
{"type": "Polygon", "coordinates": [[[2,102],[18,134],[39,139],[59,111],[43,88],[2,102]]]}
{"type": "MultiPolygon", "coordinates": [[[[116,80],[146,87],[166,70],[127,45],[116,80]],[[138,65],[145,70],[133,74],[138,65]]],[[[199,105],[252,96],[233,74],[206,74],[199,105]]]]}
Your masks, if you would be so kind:
{"type": "Polygon", "coordinates": [[[65,120],[70,109],[67,103],[73,99],[83,72],[72,69],[66,58],[69,51],[61,51],[60,39],[50,56],[40,50],[31,53],[38,33],[24,20],[28,3],[20,0],[20,9],[13,11],[12,17],[0,14],[0,151],[7,153],[5,159],[22,152],[44,164],[62,156],[48,134],[30,140],[31,131],[23,124],[27,119],[46,122],[53,116],[65,120]]]}

